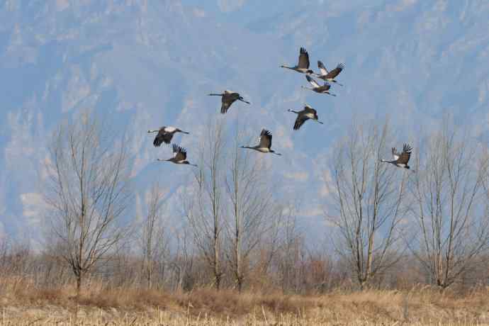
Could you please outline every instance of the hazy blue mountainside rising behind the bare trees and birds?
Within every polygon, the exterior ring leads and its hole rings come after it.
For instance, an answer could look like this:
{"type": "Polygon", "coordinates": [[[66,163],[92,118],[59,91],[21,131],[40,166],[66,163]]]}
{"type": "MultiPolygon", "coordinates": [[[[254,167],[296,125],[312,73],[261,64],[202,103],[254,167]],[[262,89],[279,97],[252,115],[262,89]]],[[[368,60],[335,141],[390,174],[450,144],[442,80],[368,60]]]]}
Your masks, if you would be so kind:
{"type": "Polygon", "coordinates": [[[264,159],[281,196],[308,198],[301,213],[316,235],[325,230],[327,153],[353,119],[389,116],[398,135],[413,137],[449,112],[488,135],[488,1],[264,2],[0,1],[1,229],[35,235],[50,133],[84,108],[130,134],[137,203],[154,176],[169,201],[191,177],[154,163],[170,150],[155,150],[148,128],[191,130],[178,138],[190,148],[206,118],[232,125],[239,116],[250,135],[269,128],[284,156],[264,159]],[[317,60],[344,62],[337,97],[300,89],[303,75],[279,68],[296,63],[300,46],[313,69],[317,60]],[[218,99],[206,94],[224,89],[252,106],[220,116],[218,99]],[[325,125],[293,132],[286,110],[305,102],[325,125]]]}

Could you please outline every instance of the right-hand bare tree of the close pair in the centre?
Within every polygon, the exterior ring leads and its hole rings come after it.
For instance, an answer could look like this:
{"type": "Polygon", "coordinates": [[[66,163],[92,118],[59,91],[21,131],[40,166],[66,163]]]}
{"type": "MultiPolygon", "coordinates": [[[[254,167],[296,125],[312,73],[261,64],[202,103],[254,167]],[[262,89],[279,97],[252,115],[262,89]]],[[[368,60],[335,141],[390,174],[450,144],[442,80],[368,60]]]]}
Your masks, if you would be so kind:
{"type": "Polygon", "coordinates": [[[227,212],[225,230],[229,247],[225,254],[238,291],[242,291],[245,274],[249,269],[252,251],[264,240],[277,215],[271,191],[271,181],[259,160],[252,160],[249,152],[239,149],[240,137],[236,133],[230,168],[225,177],[227,212]]]}

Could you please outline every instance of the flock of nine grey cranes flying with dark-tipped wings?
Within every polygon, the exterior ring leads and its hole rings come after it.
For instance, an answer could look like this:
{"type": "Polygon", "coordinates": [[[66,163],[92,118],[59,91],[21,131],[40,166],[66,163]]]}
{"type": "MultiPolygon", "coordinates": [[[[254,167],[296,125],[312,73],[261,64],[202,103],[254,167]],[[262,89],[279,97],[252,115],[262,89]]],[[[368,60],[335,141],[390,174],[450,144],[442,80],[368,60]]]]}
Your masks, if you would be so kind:
{"type": "MultiPolygon", "coordinates": [[[[305,74],[305,79],[307,79],[307,81],[312,87],[302,86],[304,89],[310,89],[311,91],[315,91],[316,93],[319,94],[336,96],[335,94],[330,93],[330,89],[332,85],[330,83],[335,83],[338,84],[339,86],[343,86],[342,84],[339,84],[339,82],[335,78],[344,69],[344,64],[340,63],[337,65],[335,69],[328,71],[325,65],[322,64],[322,62],[317,61],[317,68],[319,69],[319,73],[315,73],[312,69],[309,69],[309,65],[310,65],[309,54],[304,47],[300,47],[298,64],[296,64],[296,66],[293,67],[287,67],[284,65],[282,65],[281,67],[294,70],[296,72],[299,72],[300,74],[305,74]],[[317,81],[315,81],[315,79],[313,79],[311,76],[322,79],[323,84],[322,85],[318,84],[317,81]]],[[[220,113],[223,114],[229,110],[230,106],[232,105],[232,103],[235,103],[235,101],[242,101],[244,103],[250,104],[249,101],[245,101],[245,99],[243,99],[243,97],[235,91],[226,90],[223,92],[223,94],[208,94],[208,95],[221,97],[220,113]]],[[[293,125],[293,130],[298,130],[307,120],[313,120],[317,123],[322,124],[321,121],[317,120],[318,119],[317,111],[314,108],[308,106],[308,104],[305,104],[302,111],[288,110],[288,112],[297,114],[296,121],[293,125]]],[[[159,147],[160,145],[162,145],[163,142],[169,145],[170,142],[172,142],[172,138],[176,133],[184,133],[187,135],[189,134],[184,130],[172,126],[163,126],[158,130],[148,130],[147,132],[157,133],[153,141],[154,147],[159,147]]],[[[173,144],[172,147],[173,147],[173,154],[174,154],[172,158],[157,159],[157,161],[172,162],[174,164],[189,164],[194,167],[197,167],[196,164],[191,164],[189,161],[187,161],[187,152],[185,148],[180,147],[179,145],[176,144],[173,144]]],[[[258,145],[251,146],[251,147],[250,146],[241,146],[241,147],[247,148],[249,150],[256,150],[262,153],[273,153],[276,155],[281,155],[280,153],[277,153],[271,149],[271,132],[266,129],[263,129],[262,133],[260,133],[258,145]]],[[[412,147],[410,147],[410,145],[408,144],[405,144],[403,146],[403,152],[400,153],[398,153],[397,150],[395,150],[395,147],[393,147],[392,148],[393,160],[381,159],[381,162],[394,164],[396,167],[401,167],[404,169],[410,169],[410,167],[408,166],[408,162],[411,156],[411,151],[412,151],[412,147]]]]}

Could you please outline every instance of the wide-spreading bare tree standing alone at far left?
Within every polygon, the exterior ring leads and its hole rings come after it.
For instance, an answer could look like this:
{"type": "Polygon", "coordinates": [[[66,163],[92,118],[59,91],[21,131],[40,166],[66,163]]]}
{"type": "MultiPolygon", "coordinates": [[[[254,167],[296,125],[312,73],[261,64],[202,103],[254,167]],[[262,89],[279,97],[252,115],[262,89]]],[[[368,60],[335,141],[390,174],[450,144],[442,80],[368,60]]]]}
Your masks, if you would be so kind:
{"type": "Polygon", "coordinates": [[[130,202],[126,153],[94,116],[84,114],[57,129],[50,154],[47,245],[72,269],[79,295],[84,276],[128,231],[120,223],[130,202]]]}

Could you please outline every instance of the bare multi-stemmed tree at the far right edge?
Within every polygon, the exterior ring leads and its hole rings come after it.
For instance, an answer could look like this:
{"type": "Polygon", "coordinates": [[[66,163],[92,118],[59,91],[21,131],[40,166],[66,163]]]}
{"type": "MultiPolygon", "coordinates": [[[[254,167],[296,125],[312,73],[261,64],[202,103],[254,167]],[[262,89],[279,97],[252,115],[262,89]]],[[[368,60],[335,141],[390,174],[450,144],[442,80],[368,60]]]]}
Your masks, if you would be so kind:
{"type": "Polygon", "coordinates": [[[417,225],[410,249],[442,288],[475,268],[489,247],[488,153],[451,129],[427,137],[410,186],[417,225]]]}

